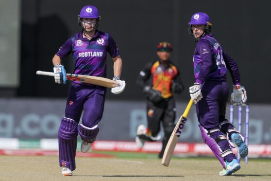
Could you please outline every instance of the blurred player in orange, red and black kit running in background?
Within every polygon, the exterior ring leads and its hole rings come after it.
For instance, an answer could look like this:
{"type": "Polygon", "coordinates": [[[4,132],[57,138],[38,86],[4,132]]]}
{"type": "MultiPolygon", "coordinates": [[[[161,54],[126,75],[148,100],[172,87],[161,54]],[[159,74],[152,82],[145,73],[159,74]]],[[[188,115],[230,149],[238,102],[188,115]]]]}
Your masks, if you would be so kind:
{"type": "Polygon", "coordinates": [[[173,93],[181,93],[184,89],[181,76],[176,66],[169,60],[172,46],[168,42],[157,45],[158,60],[148,63],[140,71],[136,84],[147,97],[148,125],[137,127],[135,142],[143,147],[145,141],[159,141],[160,124],[162,123],[165,136],[158,157],[162,158],[169,137],[175,127],[175,100],[173,93]]]}

